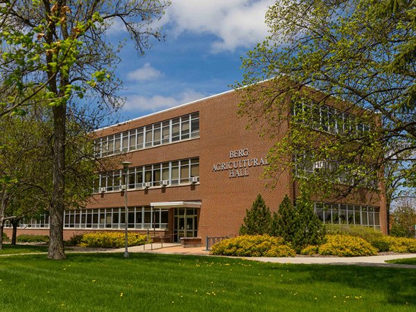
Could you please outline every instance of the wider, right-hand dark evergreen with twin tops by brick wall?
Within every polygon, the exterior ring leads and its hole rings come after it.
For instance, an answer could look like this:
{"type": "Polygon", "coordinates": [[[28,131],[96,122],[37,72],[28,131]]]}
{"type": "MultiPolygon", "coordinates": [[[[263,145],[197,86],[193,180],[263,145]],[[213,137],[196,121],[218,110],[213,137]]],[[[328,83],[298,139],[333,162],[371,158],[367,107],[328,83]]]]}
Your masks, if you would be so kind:
{"type": "Polygon", "coordinates": [[[313,202],[302,196],[294,207],[286,195],[273,214],[270,234],[281,236],[300,251],[306,245],[318,245],[324,237],[324,226],[313,212],[313,202]]]}

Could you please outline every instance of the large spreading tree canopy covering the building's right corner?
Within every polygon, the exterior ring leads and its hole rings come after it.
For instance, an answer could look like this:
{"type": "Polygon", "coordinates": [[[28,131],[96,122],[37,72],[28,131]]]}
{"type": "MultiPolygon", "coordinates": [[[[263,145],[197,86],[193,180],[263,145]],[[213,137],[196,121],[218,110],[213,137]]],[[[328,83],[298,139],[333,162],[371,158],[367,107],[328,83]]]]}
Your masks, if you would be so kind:
{"type": "Polygon", "coordinates": [[[384,168],[400,162],[396,187],[415,189],[415,15],[407,0],[269,8],[270,36],[248,52],[236,85],[240,113],[281,137],[268,177],[293,170],[306,193],[345,198],[377,191],[389,183],[384,168]]]}

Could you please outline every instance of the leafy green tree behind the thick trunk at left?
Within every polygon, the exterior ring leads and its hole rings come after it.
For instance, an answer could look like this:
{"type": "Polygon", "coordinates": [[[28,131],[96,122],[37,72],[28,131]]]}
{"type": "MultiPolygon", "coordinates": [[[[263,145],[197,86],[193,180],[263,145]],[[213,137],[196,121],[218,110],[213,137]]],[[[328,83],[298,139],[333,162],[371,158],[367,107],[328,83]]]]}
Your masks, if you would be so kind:
{"type": "MultiPolygon", "coordinates": [[[[48,106],[33,105],[24,116],[0,119],[0,229],[8,220],[13,225],[12,241],[19,220],[50,211],[52,131],[48,106]]],[[[94,162],[93,143],[71,116],[67,132],[64,204],[67,209],[76,209],[92,196],[94,176],[103,162],[94,162]]]]}

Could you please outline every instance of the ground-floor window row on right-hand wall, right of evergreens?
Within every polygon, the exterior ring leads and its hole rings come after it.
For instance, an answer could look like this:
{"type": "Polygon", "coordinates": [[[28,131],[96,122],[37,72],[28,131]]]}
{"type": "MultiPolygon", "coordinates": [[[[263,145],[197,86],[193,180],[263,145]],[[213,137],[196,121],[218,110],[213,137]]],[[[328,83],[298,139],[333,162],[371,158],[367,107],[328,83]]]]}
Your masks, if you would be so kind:
{"type": "Polygon", "coordinates": [[[362,225],[380,229],[380,208],[315,202],[315,214],[326,224],[362,225]]]}

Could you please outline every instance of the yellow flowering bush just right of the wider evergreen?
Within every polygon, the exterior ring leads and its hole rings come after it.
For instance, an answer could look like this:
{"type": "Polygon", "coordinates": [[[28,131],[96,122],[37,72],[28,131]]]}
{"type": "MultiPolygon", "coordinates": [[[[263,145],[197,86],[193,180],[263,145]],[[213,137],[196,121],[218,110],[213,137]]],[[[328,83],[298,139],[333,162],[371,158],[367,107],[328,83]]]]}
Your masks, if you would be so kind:
{"type": "Polygon", "coordinates": [[[358,236],[336,234],[327,235],[325,239],[327,243],[320,245],[319,248],[319,254],[322,255],[358,257],[377,254],[376,248],[358,236]]]}

